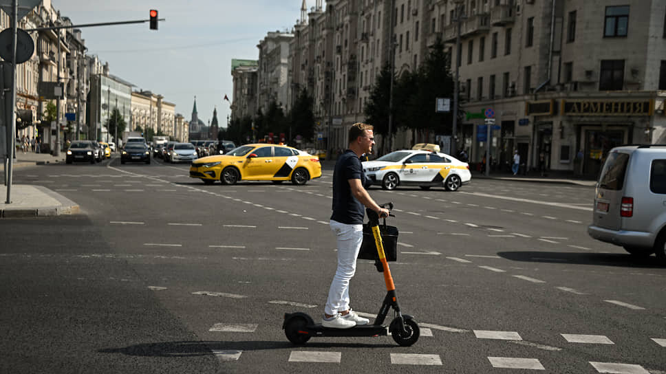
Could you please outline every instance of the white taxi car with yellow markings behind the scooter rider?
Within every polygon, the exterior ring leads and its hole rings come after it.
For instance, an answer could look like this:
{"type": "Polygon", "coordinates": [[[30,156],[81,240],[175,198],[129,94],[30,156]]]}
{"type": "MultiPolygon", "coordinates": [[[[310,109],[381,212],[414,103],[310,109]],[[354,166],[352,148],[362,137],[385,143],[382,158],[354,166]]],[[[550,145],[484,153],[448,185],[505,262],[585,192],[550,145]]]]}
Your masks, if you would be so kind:
{"type": "Polygon", "coordinates": [[[443,186],[455,191],[471,180],[469,164],[444,153],[404,150],[363,162],[363,171],[372,184],[393,190],[398,186],[419,186],[427,190],[443,186]]]}

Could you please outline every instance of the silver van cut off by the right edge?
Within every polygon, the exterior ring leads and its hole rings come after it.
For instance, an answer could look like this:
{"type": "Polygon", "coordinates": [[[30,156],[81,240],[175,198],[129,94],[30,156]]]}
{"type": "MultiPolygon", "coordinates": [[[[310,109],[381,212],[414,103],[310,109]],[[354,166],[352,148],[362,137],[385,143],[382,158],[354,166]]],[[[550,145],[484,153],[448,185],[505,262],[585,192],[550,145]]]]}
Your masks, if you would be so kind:
{"type": "Polygon", "coordinates": [[[666,146],[612,148],[594,194],[592,238],[666,259],[666,146]]]}

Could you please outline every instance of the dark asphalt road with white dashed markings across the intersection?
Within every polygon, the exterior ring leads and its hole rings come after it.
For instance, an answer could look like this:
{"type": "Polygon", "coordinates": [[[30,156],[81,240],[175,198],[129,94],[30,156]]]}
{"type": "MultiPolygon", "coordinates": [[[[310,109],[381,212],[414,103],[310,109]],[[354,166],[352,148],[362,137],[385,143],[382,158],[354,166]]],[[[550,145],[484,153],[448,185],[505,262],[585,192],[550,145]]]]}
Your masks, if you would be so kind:
{"type": "MultiPolygon", "coordinates": [[[[335,271],[331,170],[305,186],[204,186],[188,166],[17,170],[83,214],[0,221],[2,373],[666,373],[666,267],[591,239],[593,188],[473,179],[372,188],[400,229],[390,263],[422,336],[286,340],[335,271]]],[[[352,307],[383,276],[359,261],[352,307]]],[[[389,321],[392,316],[389,314],[389,321]]]]}

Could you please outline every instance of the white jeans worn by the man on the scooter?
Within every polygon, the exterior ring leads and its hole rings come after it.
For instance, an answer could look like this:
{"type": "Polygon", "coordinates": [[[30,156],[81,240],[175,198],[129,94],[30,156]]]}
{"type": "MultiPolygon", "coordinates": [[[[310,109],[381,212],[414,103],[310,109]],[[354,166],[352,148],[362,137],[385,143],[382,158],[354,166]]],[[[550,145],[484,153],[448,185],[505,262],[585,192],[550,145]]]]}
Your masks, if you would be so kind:
{"type": "Polygon", "coordinates": [[[350,309],[350,280],[356,272],[356,257],[363,242],[363,225],[347,225],[331,220],[338,241],[338,268],[328,291],[324,313],[334,315],[350,309]]]}

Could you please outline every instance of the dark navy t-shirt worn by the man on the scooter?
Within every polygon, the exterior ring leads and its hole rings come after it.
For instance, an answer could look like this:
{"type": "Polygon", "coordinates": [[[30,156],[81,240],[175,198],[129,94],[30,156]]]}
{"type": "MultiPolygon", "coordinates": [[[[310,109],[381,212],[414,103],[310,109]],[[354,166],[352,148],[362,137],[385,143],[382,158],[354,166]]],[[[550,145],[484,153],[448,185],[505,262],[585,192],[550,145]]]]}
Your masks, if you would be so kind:
{"type": "Polygon", "coordinates": [[[354,151],[347,149],[338,157],[333,171],[333,214],[331,219],[347,225],[363,224],[365,207],[352,195],[349,179],[361,179],[365,186],[365,173],[361,160],[354,151]]]}

